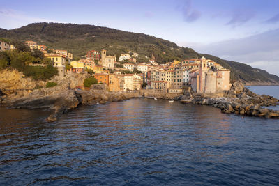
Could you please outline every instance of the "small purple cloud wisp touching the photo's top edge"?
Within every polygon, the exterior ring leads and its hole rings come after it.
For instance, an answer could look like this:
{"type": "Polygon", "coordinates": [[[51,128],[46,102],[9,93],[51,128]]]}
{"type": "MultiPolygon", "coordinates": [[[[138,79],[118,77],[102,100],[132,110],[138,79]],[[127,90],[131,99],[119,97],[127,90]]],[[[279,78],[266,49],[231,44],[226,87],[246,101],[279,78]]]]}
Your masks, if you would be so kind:
{"type": "Polygon", "coordinates": [[[183,19],[185,22],[195,22],[202,15],[199,10],[192,8],[192,0],[186,0],[183,6],[179,9],[183,13],[183,19]]]}

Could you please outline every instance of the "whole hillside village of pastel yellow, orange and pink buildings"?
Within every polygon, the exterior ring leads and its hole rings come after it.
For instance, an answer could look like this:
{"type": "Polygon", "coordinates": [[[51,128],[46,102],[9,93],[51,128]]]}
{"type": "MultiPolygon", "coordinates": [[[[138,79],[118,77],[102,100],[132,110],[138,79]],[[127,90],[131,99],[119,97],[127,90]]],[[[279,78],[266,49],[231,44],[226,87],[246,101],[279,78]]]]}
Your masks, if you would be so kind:
{"type": "MultiPolygon", "coordinates": [[[[39,49],[51,59],[59,77],[64,77],[66,73],[89,73],[98,80],[98,84],[104,84],[112,92],[146,89],[154,93],[179,94],[186,87],[191,87],[197,93],[222,93],[231,86],[230,70],[204,57],[165,64],[158,64],[155,59],[139,63],[136,52],[129,51],[116,59],[116,56],[107,56],[107,51],[103,49],[100,52],[88,51],[86,56],[74,61],[73,54],[66,50],[50,49],[30,40],[25,44],[31,50],[39,49]]],[[[13,45],[1,42],[1,50],[13,48],[13,45]]]]}

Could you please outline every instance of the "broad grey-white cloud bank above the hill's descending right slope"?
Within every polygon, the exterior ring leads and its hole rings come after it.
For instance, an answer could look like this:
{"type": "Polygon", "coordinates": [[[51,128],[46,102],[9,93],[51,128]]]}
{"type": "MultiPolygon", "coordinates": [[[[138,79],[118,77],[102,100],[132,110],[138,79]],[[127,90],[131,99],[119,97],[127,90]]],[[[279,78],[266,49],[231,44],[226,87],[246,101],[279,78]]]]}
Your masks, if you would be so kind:
{"type": "Polygon", "coordinates": [[[186,47],[193,47],[197,52],[219,56],[221,59],[246,63],[279,76],[279,29],[206,45],[188,43],[186,47]]]}

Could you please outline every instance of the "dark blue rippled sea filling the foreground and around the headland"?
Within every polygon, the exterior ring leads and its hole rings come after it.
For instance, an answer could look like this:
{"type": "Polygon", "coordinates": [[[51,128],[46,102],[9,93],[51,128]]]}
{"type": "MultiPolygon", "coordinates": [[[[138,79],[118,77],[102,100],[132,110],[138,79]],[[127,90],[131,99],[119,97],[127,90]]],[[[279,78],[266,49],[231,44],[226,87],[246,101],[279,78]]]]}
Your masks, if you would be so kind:
{"type": "Polygon", "coordinates": [[[146,98],[49,115],[0,108],[0,185],[279,185],[276,119],[146,98]]]}

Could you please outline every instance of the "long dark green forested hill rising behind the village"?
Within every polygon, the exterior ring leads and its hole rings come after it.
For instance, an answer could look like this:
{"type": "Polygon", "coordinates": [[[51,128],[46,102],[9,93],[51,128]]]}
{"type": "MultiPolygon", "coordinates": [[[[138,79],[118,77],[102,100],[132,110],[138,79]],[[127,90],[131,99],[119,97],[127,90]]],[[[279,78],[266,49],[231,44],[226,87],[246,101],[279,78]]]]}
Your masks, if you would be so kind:
{"type": "Polygon", "coordinates": [[[33,40],[54,49],[67,49],[74,56],[83,56],[87,51],[107,49],[107,54],[119,56],[128,51],[140,54],[137,61],[155,58],[158,63],[177,59],[193,59],[205,56],[232,70],[232,80],[242,82],[270,82],[279,84],[279,77],[264,70],[234,61],[225,61],[209,54],[198,54],[193,49],[179,47],[174,42],[149,36],[144,33],[120,31],[102,26],[85,24],[34,23],[19,29],[0,29],[0,38],[9,40],[33,40]]]}

